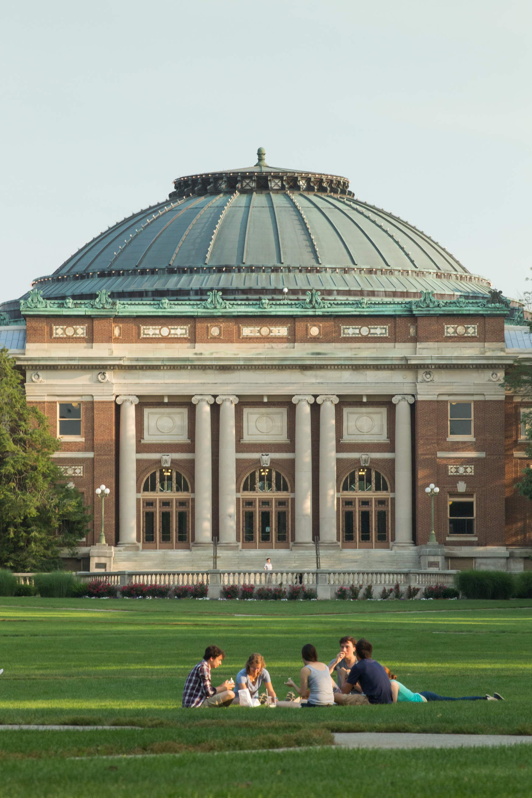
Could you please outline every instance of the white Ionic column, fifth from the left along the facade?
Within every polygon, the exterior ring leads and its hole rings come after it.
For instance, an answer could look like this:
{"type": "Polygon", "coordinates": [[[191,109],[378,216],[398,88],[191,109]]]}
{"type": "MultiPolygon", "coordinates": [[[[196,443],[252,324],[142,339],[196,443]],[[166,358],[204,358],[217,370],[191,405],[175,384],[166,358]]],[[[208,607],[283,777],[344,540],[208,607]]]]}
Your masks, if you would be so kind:
{"type": "Polygon", "coordinates": [[[317,397],[320,409],[320,543],[337,542],[337,440],[334,405],[338,397],[317,397]]]}

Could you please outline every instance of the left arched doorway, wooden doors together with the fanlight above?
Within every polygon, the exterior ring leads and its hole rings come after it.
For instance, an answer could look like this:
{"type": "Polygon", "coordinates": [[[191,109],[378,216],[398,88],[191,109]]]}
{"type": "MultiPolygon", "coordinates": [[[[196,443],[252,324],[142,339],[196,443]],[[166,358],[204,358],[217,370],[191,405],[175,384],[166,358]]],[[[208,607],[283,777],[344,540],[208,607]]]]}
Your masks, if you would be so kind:
{"type": "Polygon", "coordinates": [[[174,468],[157,468],[142,485],[142,546],[148,549],[190,547],[191,488],[174,468]]]}

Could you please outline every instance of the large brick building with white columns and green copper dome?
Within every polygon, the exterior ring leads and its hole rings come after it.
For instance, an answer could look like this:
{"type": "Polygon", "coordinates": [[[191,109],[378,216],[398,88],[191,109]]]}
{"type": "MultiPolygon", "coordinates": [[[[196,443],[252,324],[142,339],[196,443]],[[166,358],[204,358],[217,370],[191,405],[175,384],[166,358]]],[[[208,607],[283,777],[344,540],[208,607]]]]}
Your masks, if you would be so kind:
{"type": "Polygon", "coordinates": [[[65,474],[87,504],[110,489],[85,570],[207,569],[213,541],[222,570],[519,570],[515,304],[345,177],[260,148],[34,279],[0,339],[65,474]]]}

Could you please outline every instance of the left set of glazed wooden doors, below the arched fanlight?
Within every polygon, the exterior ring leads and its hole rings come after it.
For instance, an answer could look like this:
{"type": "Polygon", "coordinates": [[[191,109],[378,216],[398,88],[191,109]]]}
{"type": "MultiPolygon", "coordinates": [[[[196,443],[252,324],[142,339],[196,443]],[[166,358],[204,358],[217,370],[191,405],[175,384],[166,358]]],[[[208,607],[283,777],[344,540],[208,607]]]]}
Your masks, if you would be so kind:
{"type": "Polygon", "coordinates": [[[190,504],[183,496],[146,496],[142,499],[142,547],[190,548],[190,504]]]}

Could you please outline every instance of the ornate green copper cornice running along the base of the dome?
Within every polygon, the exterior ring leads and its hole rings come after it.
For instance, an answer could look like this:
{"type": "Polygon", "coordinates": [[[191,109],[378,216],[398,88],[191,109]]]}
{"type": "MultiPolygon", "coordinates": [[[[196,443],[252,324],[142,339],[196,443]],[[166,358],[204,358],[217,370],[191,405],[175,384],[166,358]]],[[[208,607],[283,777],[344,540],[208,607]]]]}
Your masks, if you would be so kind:
{"type": "Polygon", "coordinates": [[[281,299],[274,302],[262,298],[226,300],[222,291],[207,291],[204,301],[189,299],[112,299],[101,290],[93,300],[45,299],[42,291],[33,289],[30,297],[21,300],[23,316],[506,316],[510,302],[501,291],[491,291],[486,299],[436,299],[432,291],[422,291],[420,299],[387,300],[367,297],[322,299],[321,291],[306,291],[306,299],[281,299]]]}

